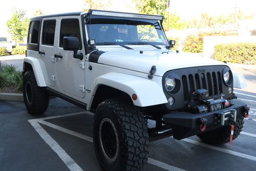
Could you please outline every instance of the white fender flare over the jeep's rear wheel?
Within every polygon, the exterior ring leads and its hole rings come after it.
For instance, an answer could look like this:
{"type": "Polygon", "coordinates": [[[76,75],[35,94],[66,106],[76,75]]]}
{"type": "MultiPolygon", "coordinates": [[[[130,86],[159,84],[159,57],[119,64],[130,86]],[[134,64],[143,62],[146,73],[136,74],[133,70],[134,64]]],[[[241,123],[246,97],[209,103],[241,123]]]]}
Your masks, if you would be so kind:
{"type": "Polygon", "coordinates": [[[36,79],[36,83],[37,86],[39,87],[46,87],[46,82],[45,82],[45,78],[44,75],[42,74],[42,69],[41,69],[41,65],[38,61],[37,58],[34,57],[26,57],[23,60],[23,71],[25,70],[25,62],[31,64],[32,68],[33,68],[33,72],[35,75],[35,79],[36,79]]]}

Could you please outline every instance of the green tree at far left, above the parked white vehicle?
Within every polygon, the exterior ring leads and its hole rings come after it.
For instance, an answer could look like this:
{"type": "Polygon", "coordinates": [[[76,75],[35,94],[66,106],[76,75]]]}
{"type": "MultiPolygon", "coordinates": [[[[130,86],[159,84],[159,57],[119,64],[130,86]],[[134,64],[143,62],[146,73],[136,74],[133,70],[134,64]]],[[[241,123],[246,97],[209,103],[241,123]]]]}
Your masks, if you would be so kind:
{"type": "Polygon", "coordinates": [[[25,10],[13,9],[12,17],[6,22],[7,31],[15,41],[23,42],[28,34],[29,19],[25,15],[25,10]]]}

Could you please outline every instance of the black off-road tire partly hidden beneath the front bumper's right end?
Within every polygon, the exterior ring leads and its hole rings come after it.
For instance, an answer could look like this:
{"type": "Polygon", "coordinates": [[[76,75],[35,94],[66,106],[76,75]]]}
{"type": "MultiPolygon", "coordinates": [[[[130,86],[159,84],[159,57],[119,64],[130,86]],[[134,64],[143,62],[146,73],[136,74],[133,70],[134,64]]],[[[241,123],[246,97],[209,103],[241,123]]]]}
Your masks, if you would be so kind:
{"type": "MultiPolygon", "coordinates": [[[[232,140],[236,139],[240,135],[240,132],[243,129],[243,125],[244,125],[244,117],[241,116],[240,118],[237,119],[236,125],[234,126],[232,140]]],[[[197,136],[206,143],[209,143],[212,145],[219,145],[219,144],[224,144],[229,142],[230,134],[231,134],[231,126],[224,126],[217,130],[205,132],[197,136]]]]}

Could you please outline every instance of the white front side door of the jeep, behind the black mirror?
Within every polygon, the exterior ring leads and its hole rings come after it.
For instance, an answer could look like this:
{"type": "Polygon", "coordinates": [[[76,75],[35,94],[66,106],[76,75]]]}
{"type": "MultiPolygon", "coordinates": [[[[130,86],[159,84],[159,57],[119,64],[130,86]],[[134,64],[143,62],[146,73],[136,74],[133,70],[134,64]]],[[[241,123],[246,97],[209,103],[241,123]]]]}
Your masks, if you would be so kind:
{"type": "Polygon", "coordinates": [[[77,37],[79,39],[80,50],[78,54],[84,54],[84,46],[81,41],[80,16],[59,17],[58,46],[56,48],[56,81],[63,93],[72,94],[83,98],[85,92],[85,69],[84,60],[73,58],[73,51],[64,51],[63,37],[77,37]]]}

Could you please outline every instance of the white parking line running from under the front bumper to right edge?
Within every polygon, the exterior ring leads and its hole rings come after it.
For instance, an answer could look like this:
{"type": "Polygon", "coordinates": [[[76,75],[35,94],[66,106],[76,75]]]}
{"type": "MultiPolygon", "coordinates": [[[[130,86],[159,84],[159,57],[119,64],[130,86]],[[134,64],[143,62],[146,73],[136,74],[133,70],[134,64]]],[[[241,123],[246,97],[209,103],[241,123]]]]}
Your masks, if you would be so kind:
{"type": "Polygon", "coordinates": [[[219,151],[219,152],[224,152],[224,153],[231,154],[231,155],[234,155],[234,156],[238,156],[238,157],[242,157],[242,158],[246,158],[246,159],[256,161],[255,156],[247,155],[247,154],[244,154],[244,153],[239,153],[239,152],[231,151],[231,150],[228,150],[228,149],[219,148],[218,146],[209,145],[209,144],[199,142],[199,141],[195,141],[195,140],[188,139],[188,138],[182,139],[182,141],[193,143],[193,144],[196,144],[196,145],[200,145],[200,146],[203,146],[203,147],[211,149],[211,150],[216,150],[216,151],[219,151]]]}

